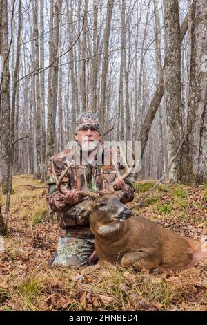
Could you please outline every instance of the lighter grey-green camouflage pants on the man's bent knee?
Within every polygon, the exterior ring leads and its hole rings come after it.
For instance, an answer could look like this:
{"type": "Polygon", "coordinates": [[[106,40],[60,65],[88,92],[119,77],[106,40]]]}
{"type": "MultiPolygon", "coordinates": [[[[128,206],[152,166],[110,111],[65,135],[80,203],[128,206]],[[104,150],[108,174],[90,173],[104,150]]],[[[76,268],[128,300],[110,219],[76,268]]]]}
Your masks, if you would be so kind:
{"type": "Polygon", "coordinates": [[[88,257],[94,251],[94,239],[60,238],[51,266],[88,266],[88,257]]]}

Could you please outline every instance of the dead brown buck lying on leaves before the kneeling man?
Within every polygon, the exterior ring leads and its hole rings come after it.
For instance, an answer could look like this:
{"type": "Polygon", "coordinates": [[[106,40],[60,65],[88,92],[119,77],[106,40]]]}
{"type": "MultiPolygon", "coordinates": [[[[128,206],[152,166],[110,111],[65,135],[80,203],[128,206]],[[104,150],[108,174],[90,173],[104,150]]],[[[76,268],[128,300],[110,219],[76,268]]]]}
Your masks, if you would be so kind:
{"type": "MultiPolygon", "coordinates": [[[[121,177],[126,179],[130,171],[128,169],[121,177]]],[[[59,180],[55,178],[62,193],[67,191],[61,187],[64,174],[66,171],[59,180]]],[[[118,263],[124,267],[137,266],[162,272],[184,270],[207,259],[207,238],[199,243],[161,228],[149,219],[132,216],[132,210],[120,202],[120,191],[91,192],[87,189],[80,194],[91,198],[86,204],[99,264],[118,263]]]]}

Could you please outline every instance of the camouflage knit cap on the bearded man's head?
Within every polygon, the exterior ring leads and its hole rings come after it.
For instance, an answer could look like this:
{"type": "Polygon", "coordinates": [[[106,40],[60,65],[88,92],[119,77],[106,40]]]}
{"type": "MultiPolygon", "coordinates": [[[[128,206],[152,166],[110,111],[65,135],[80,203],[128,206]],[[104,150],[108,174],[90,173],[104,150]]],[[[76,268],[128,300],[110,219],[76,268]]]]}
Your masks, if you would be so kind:
{"type": "Polygon", "coordinates": [[[96,130],[100,133],[99,118],[94,111],[83,111],[77,118],[75,133],[86,129],[96,130]]]}

